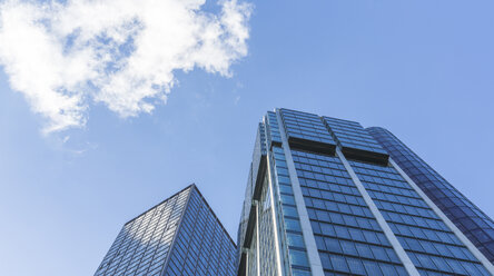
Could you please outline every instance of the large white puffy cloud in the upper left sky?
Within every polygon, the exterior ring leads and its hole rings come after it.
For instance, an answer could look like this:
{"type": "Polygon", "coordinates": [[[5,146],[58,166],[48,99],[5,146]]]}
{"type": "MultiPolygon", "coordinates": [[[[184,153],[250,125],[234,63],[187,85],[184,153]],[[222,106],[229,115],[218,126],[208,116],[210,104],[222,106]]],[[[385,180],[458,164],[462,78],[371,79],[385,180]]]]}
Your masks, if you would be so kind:
{"type": "Polygon", "coordinates": [[[81,127],[92,102],[121,117],[150,112],[176,70],[230,76],[247,55],[251,7],[205,0],[0,3],[0,63],[12,89],[48,119],[46,132],[81,127]]]}

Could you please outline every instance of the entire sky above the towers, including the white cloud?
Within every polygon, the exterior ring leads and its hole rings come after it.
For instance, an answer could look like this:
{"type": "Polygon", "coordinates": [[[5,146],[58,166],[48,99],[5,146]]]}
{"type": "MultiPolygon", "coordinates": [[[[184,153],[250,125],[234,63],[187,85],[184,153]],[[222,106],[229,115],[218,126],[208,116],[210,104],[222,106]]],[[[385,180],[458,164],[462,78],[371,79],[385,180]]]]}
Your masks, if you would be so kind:
{"type": "Polygon", "coordinates": [[[2,274],[92,275],[191,183],[235,238],[277,107],[387,128],[494,217],[494,2],[140,2],[0,1],[2,274]]]}

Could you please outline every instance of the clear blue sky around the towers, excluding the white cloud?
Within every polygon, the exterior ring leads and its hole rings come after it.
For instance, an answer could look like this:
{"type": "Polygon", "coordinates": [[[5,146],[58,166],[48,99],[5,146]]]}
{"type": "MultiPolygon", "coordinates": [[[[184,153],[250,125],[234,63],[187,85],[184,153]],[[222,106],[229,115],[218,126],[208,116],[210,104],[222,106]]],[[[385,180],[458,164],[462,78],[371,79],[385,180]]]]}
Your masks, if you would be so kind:
{"type": "Polygon", "coordinates": [[[90,103],[85,127],[43,135],[1,71],[4,275],[91,275],[125,221],[190,183],[236,237],[256,127],[275,107],[385,127],[494,216],[492,1],[253,3],[233,76],[175,70],[150,114],[90,103]]]}

